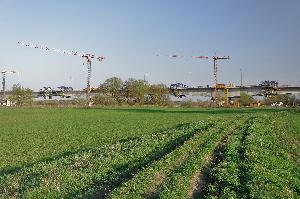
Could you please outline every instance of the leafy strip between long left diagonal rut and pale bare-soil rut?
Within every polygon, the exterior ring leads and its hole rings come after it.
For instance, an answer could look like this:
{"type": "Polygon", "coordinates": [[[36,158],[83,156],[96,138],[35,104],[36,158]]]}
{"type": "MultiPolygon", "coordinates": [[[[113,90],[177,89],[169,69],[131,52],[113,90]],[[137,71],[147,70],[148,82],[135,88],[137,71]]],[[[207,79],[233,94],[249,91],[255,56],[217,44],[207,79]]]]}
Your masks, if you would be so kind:
{"type": "Polygon", "coordinates": [[[185,198],[191,178],[201,169],[220,139],[234,131],[239,120],[220,122],[215,128],[196,134],[184,145],[138,173],[114,190],[111,198],[185,198]]]}

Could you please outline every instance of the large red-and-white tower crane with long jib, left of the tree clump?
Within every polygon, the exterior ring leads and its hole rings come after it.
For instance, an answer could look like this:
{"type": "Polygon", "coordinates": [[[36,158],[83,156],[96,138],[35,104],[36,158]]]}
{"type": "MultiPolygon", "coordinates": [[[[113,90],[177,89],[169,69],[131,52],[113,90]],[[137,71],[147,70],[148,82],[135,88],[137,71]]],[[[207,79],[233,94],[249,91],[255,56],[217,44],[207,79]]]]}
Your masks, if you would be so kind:
{"type": "Polygon", "coordinates": [[[45,51],[53,51],[57,53],[62,53],[66,55],[75,55],[75,56],[80,56],[84,58],[85,62],[83,64],[87,65],[87,81],[86,81],[86,100],[87,100],[87,105],[91,106],[92,100],[90,96],[91,92],[91,75],[92,75],[92,60],[94,58],[98,61],[103,61],[105,58],[103,56],[95,56],[92,53],[82,53],[78,51],[73,51],[73,50],[64,50],[64,49],[59,49],[59,48],[49,48],[48,46],[42,46],[42,45],[37,45],[37,44],[32,44],[32,43],[26,43],[23,41],[19,41],[18,44],[26,47],[31,47],[31,48],[37,48],[45,51]]]}

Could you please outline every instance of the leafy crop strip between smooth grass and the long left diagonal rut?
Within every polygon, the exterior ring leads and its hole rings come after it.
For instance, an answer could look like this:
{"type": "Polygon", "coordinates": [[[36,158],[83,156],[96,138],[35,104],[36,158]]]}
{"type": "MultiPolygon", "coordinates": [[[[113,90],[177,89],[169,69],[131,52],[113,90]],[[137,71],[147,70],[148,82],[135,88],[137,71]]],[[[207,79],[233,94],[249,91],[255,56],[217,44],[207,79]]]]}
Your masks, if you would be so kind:
{"type": "Polygon", "coordinates": [[[0,177],[0,197],[105,196],[144,167],[217,123],[208,120],[186,124],[24,167],[0,177]]]}

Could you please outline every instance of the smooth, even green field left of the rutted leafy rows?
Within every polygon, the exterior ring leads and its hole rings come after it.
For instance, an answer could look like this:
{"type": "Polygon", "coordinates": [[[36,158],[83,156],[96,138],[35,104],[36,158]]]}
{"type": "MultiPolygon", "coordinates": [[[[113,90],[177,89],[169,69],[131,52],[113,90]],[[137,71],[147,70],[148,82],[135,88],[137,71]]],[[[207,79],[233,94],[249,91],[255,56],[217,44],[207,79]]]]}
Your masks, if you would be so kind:
{"type": "Polygon", "coordinates": [[[0,172],[207,117],[156,109],[0,109],[0,172]]]}

